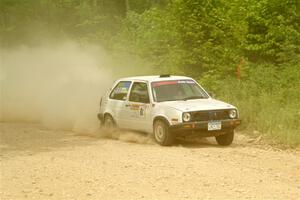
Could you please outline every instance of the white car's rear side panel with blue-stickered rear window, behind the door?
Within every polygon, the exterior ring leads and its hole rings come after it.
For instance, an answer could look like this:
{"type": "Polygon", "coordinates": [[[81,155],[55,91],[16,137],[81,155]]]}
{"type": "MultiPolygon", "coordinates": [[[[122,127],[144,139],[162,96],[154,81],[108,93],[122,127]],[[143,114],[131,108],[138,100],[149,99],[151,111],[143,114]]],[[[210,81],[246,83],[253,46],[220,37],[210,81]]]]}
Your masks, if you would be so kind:
{"type": "Polygon", "coordinates": [[[109,109],[108,112],[112,114],[120,128],[127,128],[129,113],[127,112],[126,105],[131,84],[131,81],[118,82],[111,91],[108,105],[106,106],[109,109]]]}

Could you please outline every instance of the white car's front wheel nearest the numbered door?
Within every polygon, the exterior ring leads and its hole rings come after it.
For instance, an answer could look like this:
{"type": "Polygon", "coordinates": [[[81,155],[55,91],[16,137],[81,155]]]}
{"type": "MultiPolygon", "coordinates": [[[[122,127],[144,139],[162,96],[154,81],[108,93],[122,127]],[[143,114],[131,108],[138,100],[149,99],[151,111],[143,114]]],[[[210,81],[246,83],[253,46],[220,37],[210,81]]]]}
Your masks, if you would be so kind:
{"type": "Polygon", "coordinates": [[[155,141],[162,146],[170,146],[174,143],[174,135],[169,131],[169,126],[162,120],[156,120],[153,125],[155,141]]]}

